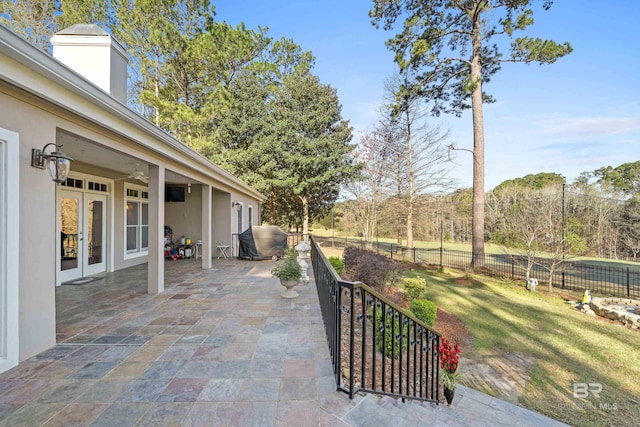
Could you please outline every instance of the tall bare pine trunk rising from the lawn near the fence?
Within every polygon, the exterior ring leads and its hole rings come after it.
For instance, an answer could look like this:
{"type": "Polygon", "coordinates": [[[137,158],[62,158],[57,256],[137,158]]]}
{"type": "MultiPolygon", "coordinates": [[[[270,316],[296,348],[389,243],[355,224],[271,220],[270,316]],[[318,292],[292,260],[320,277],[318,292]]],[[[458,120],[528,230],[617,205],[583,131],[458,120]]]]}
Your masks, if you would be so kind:
{"type": "Polygon", "coordinates": [[[473,20],[471,61],[471,113],[473,116],[473,208],[471,227],[471,267],[484,265],[484,119],[482,117],[482,34],[480,16],[473,20]]]}

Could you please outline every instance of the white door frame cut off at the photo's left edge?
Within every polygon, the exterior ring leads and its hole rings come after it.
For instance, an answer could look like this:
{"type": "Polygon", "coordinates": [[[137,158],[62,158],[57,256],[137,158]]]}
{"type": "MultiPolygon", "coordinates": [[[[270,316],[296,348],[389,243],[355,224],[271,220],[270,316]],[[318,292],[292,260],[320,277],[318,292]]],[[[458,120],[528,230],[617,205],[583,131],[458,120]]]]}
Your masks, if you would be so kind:
{"type": "Polygon", "coordinates": [[[18,364],[20,151],[15,132],[0,128],[0,372],[18,364]]]}

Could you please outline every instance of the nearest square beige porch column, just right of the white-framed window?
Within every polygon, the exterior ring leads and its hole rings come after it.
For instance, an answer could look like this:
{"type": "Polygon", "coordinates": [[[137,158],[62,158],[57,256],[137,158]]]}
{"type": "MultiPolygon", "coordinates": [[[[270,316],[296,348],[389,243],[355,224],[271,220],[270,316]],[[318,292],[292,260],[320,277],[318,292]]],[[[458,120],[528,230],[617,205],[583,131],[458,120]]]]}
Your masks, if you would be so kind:
{"type": "Polygon", "coordinates": [[[163,166],[149,165],[149,262],[147,292],[164,292],[164,175],[163,166]]]}

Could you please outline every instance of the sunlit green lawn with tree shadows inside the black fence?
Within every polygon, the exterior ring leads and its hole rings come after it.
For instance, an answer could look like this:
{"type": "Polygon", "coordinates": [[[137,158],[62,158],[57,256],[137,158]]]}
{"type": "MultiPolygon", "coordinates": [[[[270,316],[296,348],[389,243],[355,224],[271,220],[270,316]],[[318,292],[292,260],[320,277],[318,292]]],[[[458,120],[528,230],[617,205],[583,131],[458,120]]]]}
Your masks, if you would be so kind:
{"type": "Polygon", "coordinates": [[[426,270],[409,275],[424,277],[423,296],[471,331],[474,348],[463,350],[467,357],[519,352],[535,361],[521,405],[571,425],[638,425],[639,331],[509,281],[474,276],[475,284],[465,286],[426,270]],[[602,384],[599,398],[575,398],[576,382],[602,384]]]}

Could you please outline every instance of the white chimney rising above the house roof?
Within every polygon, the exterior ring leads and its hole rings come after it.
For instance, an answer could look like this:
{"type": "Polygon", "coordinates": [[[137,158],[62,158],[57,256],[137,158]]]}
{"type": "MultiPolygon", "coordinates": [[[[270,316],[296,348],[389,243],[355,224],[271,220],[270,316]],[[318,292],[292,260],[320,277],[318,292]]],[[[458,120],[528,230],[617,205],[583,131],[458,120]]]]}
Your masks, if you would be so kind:
{"type": "Polygon", "coordinates": [[[127,103],[127,53],[109,33],[95,24],[76,24],[51,38],[53,57],[127,103]]]}

